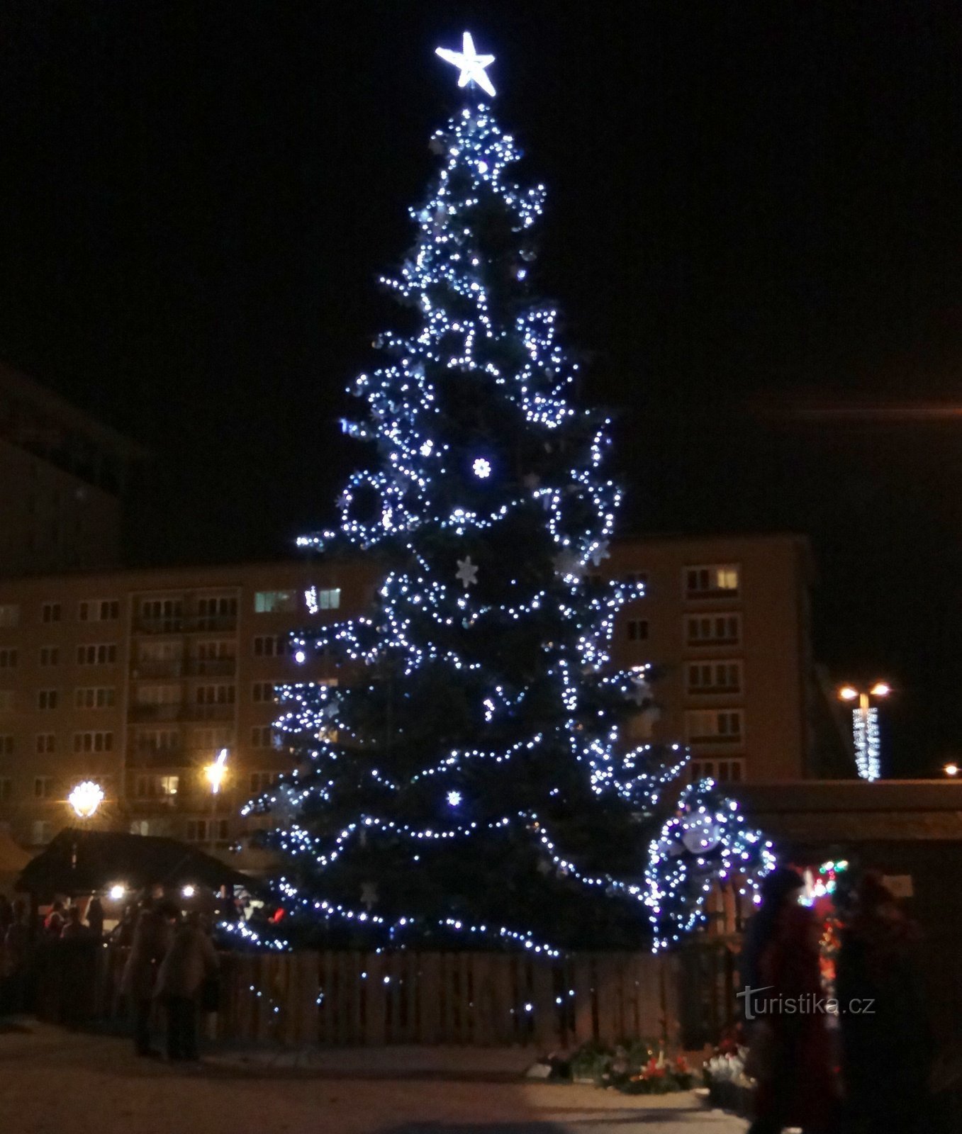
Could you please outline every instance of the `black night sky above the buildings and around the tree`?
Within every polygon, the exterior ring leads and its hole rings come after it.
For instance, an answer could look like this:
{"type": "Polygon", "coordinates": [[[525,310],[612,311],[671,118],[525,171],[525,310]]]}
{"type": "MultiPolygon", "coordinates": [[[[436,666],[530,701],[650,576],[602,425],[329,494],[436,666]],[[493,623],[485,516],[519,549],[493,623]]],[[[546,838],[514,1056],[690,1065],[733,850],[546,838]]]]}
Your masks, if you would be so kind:
{"type": "Polygon", "coordinates": [[[954,0],[0,2],[0,356],[153,449],[132,556],[330,517],[464,27],[626,524],[809,533],[818,655],[896,685],[893,770],[962,756],[962,418],[783,413],[962,404],[954,0]]]}

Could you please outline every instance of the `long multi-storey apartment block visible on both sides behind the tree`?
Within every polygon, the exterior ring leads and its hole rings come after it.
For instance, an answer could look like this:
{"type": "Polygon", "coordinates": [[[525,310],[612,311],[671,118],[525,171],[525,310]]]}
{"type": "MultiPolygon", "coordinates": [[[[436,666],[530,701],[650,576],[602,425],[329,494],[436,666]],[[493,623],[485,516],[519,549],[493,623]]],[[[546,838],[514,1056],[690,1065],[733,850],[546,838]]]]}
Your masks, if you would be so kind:
{"type": "MultiPolygon", "coordinates": [[[[630,739],[684,741],[719,780],[812,773],[803,540],[623,540],[601,573],[647,587],[615,632],[615,661],[657,675],[630,739]]],[[[98,824],[226,849],[241,805],[287,769],[275,686],[338,678],[330,660],[295,666],[289,633],[363,610],[375,583],[351,561],[0,578],[0,823],[41,847],[93,779],[98,824]]]]}

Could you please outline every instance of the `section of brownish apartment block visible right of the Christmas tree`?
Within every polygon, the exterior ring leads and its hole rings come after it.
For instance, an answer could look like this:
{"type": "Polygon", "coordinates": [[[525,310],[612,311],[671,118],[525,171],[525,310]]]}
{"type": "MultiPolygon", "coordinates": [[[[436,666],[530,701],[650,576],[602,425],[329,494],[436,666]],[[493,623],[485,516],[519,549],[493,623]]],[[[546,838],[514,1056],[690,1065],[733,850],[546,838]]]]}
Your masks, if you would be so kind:
{"type": "Polygon", "coordinates": [[[644,584],[614,650],[623,666],[652,666],[656,706],[638,720],[636,739],[684,742],[692,775],[722,782],[824,771],[803,536],[621,540],[604,567],[644,584]]]}

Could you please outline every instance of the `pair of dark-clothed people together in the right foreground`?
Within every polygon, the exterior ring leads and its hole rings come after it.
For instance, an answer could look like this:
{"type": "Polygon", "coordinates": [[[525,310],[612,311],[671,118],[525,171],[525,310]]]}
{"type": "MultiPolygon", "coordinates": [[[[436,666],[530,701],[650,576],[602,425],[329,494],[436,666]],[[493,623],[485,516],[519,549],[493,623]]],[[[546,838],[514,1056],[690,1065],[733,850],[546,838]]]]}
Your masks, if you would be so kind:
{"type": "Polygon", "coordinates": [[[867,872],[826,996],[820,926],[799,900],[803,887],[796,871],[774,871],[746,934],[746,1070],[758,1083],[749,1134],[929,1134],[934,1051],[918,926],[867,872]]]}

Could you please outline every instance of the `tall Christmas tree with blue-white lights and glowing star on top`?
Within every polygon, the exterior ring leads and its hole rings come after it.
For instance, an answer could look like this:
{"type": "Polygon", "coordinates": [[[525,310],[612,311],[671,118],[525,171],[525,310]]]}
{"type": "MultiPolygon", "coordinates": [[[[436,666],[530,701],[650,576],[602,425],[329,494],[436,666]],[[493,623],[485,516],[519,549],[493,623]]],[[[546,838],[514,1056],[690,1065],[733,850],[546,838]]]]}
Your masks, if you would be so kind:
{"type": "Polygon", "coordinates": [[[324,651],[339,680],[282,691],[297,771],[247,810],[273,824],[288,939],[663,943],[697,923],[707,880],[751,886],[770,855],[708,785],[676,812],[681,748],[623,741],[648,687],[608,653],[641,593],[597,575],[619,501],[609,422],[573,405],[579,365],[533,285],[545,191],[515,183],[517,145],[479,101],[492,59],[469,35],[439,54],[467,99],[382,280],[407,329],[352,390],[345,429],[372,465],[339,530],[301,541],[377,556],[382,583],[369,613],[296,636],[295,659],[324,651]]]}

